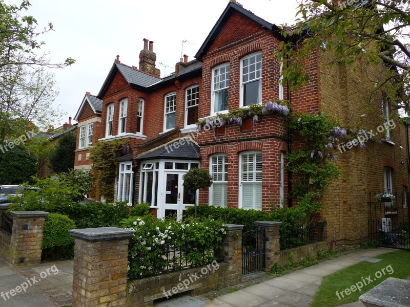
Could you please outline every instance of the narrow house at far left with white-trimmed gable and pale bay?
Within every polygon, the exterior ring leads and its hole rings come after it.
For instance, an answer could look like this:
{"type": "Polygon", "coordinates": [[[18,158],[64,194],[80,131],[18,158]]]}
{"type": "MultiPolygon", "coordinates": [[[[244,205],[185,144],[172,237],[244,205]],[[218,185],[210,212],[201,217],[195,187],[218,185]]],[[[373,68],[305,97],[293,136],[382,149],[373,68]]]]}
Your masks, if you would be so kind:
{"type": "MultiPolygon", "coordinates": [[[[98,141],[101,134],[101,110],[103,101],[87,92],[78,108],[74,120],[77,121],[77,145],[75,149],[74,169],[94,172],[90,160],[90,147],[98,141]]],[[[89,200],[99,200],[93,190],[89,200]]]]}

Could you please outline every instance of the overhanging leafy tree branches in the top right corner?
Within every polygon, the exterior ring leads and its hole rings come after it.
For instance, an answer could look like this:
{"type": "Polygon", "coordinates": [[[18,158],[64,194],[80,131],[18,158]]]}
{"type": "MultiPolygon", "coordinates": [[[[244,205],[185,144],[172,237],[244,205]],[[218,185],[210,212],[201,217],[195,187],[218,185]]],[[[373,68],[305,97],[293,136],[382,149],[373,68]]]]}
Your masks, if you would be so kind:
{"type": "Polygon", "coordinates": [[[381,91],[395,107],[410,110],[407,0],[299,0],[298,7],[301,17],[294,27],[282,26],[282,34],[289,39],[275,53],[290,59],[282,76],[294,90],[308,82],[305,62],[321,48],[333,55],[329,65],[344,63],[356,69],[383,64],[383,76],[371,80],[369,102],[381,91]]]}

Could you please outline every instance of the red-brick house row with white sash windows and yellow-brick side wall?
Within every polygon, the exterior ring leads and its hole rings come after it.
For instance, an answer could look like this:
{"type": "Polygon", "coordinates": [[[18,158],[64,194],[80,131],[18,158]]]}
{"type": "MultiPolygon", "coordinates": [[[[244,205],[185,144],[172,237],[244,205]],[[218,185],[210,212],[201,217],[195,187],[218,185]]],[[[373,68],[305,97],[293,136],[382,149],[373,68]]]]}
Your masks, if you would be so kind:
{"type": "MultiPolygon", "coordinates": [[[[374,112],[365,113],[362,107],[371,94],[365,84],[384,68],[330,68],[326,59],[331,55],[320,49],[310,57],[310,82],[294,92],[281,84],[282,63],[272,56],[287,39],[292,35],[283,37],[276,25],[229,2],[195,59],[188,61],[185,55],[164,78],[155,67],[153,41],[144,39],[139,68],[117,56],[98,95],[84,98],[75,117],[76,168],[91,167],[87,148],[92,142],[124,139],[133,152],[119,159],[113,184],[120,201],[148,202],[158,217],[180,216],[196,198],[200,204],[269,210],[288,204],[286,154],[305,142],[290,140],[280,113],[200,131],[198,121],[281,99],[289,101],[293,112],[323,112],[344,127],[377,131],[385,124],[383,117],[393,115],[395,128],[378,132],[382,141],[336,153],[341,175],[326,190],[326,209],[318,217],[327,221],[335,245],[366,239],[373,201],[369,193],[394,193],[402,208],[408,202],[407,127],[382,96],[373,99],[374,112]],[[183,187],[183,174],[198,165],[212,173],[209,190],[183,187]]],[[[404,219],[404,211],[390,217],[404,219]]]]}

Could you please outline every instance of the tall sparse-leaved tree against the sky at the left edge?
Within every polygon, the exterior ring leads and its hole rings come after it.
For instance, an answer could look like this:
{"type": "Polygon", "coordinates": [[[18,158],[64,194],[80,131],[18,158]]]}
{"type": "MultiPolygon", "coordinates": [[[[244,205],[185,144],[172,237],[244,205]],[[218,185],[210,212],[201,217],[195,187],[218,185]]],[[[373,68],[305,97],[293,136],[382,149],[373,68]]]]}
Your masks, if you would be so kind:
{"type": "Polygon", "coordinates": [[[48,68],[75,62],[67,58],[53,63],[47,53],[39,52],[45,42],[38,37],[52,31],[53,25],[37,30],[37,20],[24,15],[30,6],[26,0],[19,6],[0,0],[0,145],[6,136],[23,134],[29,122],[43,128],[61,114],[52,107],[58,93],[48,68]]]}

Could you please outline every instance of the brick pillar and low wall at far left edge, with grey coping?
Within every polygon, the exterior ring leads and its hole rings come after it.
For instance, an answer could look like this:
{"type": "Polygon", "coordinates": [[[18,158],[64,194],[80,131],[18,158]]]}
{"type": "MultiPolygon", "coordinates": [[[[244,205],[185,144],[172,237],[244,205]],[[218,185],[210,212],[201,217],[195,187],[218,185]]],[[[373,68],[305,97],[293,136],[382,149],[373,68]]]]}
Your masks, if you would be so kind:
{"type": "Polygon", "coordinates": [[[39,264],[42,259],[43,227],[48,212],[11,211],[11,234],[0,231],[0,255],[13,265],[39,264]]]}

